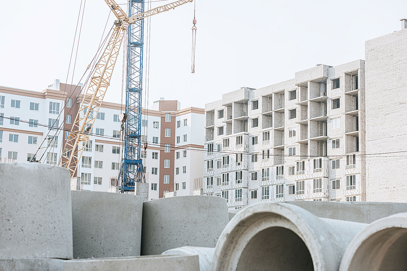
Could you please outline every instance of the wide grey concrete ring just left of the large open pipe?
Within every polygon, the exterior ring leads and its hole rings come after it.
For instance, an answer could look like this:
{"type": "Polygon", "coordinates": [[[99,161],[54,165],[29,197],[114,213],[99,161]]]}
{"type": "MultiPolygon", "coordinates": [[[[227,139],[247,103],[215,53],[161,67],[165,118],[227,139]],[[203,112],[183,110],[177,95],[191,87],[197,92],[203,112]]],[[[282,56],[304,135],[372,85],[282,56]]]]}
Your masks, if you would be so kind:
{"type": "Polygon", "coordinates": [[[143,204],[141,255],[182,246],[215,247],[229,221],[221,197],[184,196],[143,204]]]}

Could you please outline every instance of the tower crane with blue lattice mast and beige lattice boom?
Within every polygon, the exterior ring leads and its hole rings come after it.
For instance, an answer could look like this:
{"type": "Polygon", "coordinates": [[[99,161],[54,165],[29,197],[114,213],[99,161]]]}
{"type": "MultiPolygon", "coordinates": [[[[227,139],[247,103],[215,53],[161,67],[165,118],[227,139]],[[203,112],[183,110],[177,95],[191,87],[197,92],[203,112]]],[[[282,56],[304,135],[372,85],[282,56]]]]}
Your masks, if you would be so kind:
{"type": "Polygon", "coordinates": [[[105,0],[116,19],[103,54],[96,64],[90,83],[84,91],[79,111],[68,134],[59,165],[69,170],[71,180],[89,140],[90,131],[105,97],[125,32],[127,44],[126,109],[120,115],[124,130],[124,159],[116,185],[121,193],[134,191],[135,182],[143,176],[141,146],[141,100],[144,18],[175,9],[193,0],[179,0],[144,12],[144,0],[129,0],[128,15],[114,0],[105,0]]]}

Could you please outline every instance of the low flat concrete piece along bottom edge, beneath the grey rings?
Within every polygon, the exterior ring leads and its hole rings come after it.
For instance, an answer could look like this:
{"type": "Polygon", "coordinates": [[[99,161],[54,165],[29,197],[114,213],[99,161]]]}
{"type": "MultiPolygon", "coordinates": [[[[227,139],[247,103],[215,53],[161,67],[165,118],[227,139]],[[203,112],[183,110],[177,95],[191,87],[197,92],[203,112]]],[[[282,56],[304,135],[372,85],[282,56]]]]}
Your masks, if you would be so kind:
{"type": "Polygon", "coordinates": [[[153,255],[141,257],[67,260],[63,271],[199,271],[197,255],[153,255]]]}

